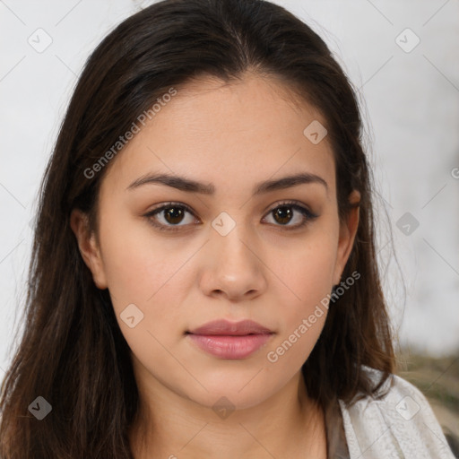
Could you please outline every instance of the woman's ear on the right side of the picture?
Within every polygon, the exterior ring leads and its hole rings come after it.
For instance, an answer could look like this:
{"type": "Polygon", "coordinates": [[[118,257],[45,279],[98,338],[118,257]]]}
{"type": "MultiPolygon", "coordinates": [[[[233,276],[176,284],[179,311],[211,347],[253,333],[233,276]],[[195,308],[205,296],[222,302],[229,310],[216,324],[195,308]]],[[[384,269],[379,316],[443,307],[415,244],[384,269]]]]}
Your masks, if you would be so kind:
{"type": "Polygon", "coordinates": [[[360,194],[357,190],[349,195],[349,202],[353,204],[351,210],[343,221],[340,222],[340,237],[338,240],[338,253],[333,275],[333,285],[339,284],[349,255],[351,255],[355,235],[359,228],[359,202],[360,194]]]}

